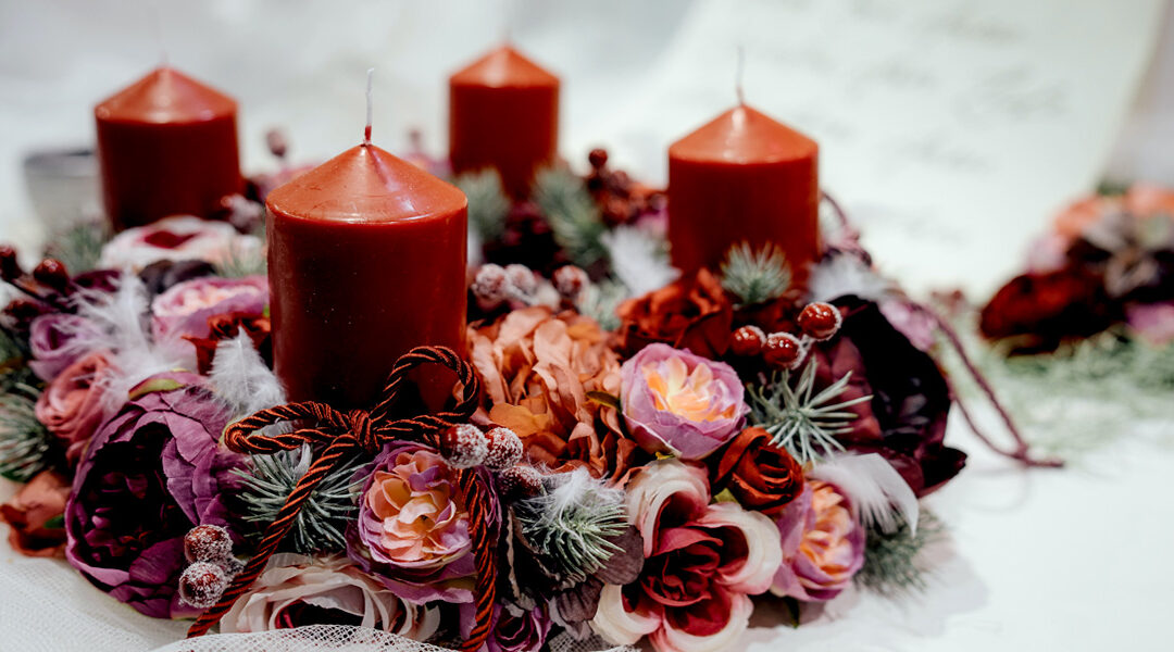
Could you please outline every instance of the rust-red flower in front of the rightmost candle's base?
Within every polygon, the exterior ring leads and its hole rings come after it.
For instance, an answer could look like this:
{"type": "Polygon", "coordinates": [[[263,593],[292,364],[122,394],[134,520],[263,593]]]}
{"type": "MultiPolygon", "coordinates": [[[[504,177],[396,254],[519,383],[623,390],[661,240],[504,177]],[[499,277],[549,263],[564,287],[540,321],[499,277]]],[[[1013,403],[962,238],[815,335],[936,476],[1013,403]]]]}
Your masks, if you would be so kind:
{"type": "Polygon", "coordinates": [[[626,355],[652,342],[688,348],[706,358],[717,358],[729,347],[734,307],[717,277],[704,269],[628,299],[616,312],[620,349],[626,355]]]}

